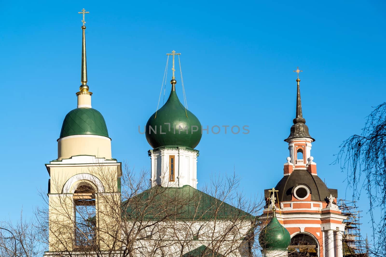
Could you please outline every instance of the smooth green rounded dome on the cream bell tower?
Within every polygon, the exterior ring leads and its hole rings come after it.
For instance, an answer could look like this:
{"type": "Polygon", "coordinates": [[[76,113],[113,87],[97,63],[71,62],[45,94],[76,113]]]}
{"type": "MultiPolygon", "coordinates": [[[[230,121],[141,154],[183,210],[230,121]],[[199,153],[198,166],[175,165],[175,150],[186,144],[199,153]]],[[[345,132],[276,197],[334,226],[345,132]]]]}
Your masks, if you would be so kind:
{"type": "Polygon", "coordinates": [[[93,108],[76,108],[63,120],[60,137],[72,135],[99,135],[108,137],[105,119],[93,108]]]}

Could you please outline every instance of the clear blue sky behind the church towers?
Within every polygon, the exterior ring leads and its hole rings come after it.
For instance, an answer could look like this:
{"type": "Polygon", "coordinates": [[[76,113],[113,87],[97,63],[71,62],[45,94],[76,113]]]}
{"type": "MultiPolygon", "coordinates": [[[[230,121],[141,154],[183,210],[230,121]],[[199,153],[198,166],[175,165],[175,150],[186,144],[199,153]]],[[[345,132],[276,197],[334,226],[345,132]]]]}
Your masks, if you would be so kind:
{"type": "MultiPolygon", "coordinates": [[[[201,124],[250,129],[203,135],[198,186],[235,169],[245,194],[262,194],[283,176],[299,66],[318,175],[350,198],[345,174],[330,164],[340,143],[385,100],[384,2],[2,1],[1,220],[17,218],[22,208],[28,217],[42,204],[44,164],[57,158],[63,118],[76,108],[82,8],[90,12],[92,105],[105,117],[113,157],[149,169],[150,146],[138,125],[155,112],[165,54],[176,50],[188,107],[201,124]]],[[[360,207],[367,210],[366,200],[360,207]]]]}

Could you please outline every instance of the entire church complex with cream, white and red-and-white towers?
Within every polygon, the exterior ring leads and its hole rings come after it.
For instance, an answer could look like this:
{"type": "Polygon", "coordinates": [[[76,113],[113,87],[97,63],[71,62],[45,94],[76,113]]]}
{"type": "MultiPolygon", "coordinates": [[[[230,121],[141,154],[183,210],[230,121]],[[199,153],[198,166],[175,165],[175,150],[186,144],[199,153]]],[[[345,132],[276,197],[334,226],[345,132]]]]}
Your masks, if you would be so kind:
{"type": "MultiPolygon", "coordinates": [[[[87,12],[81,13],[84,22],[87,12]]],[[[77,108],[64,118],[57,158],[46,164],[49,249],[44,256],[254,256],[260,254],[257,231],[266,257],[343,256],[344,217],[337,190],[317,176],[299,79],[283,179],[265,190],[267,205],[256,216],[197,189],[201,123],[178,98],[174,51],[169,98],[146,124],[149,186],[127,181],[122,163],[112,156],[105,120],[91,106],[84,23],[81,29],[77,108]],[[131,188],[122,188],[124,183],[131,188]],[[129,197],[122,202],[124,194],[129,197]]]]}

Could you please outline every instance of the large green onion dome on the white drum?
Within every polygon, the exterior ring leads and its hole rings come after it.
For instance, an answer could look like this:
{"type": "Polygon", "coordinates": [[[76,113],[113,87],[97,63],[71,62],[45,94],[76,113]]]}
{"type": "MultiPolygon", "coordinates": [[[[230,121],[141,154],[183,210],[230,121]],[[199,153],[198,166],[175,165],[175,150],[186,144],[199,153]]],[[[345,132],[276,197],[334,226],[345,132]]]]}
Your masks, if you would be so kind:
{"type": "Polygon", "coordinates": [[[179,101],[176,91],[170,92],[168,101],[156,113],[151,115],[145,129],[147,142],[153,149],[165,146],[194,149],[198,145],[201,140],[201,123],[190,111],[186,110],[185,113],[185,107],[179,101]]]}

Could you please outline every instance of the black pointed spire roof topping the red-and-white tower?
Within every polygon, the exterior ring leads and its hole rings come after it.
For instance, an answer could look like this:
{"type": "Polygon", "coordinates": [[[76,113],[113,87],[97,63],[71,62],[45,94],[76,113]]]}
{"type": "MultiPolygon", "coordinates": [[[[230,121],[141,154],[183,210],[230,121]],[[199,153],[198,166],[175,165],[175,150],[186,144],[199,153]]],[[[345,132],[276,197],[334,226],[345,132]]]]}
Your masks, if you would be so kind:
{"type": "Polygon", "coordinates": [[[293,119],[293,125],[291,127],[291,132],[289,133],[289,136],[284,139],[284,141],[288,141],[289,139],[294,139],[298,137],[308,137],[312,139],[314,142],[315,139],[313,139],[310,136],[310,133],[308,132],[308,127],[306,125],[306,120],[303,118],[303,113],[301,112],[301,99],[300,99],[300,79],[297,79],[296,82],[298,82],[298,92],[296,96],[296,117],[293,119]]]}

